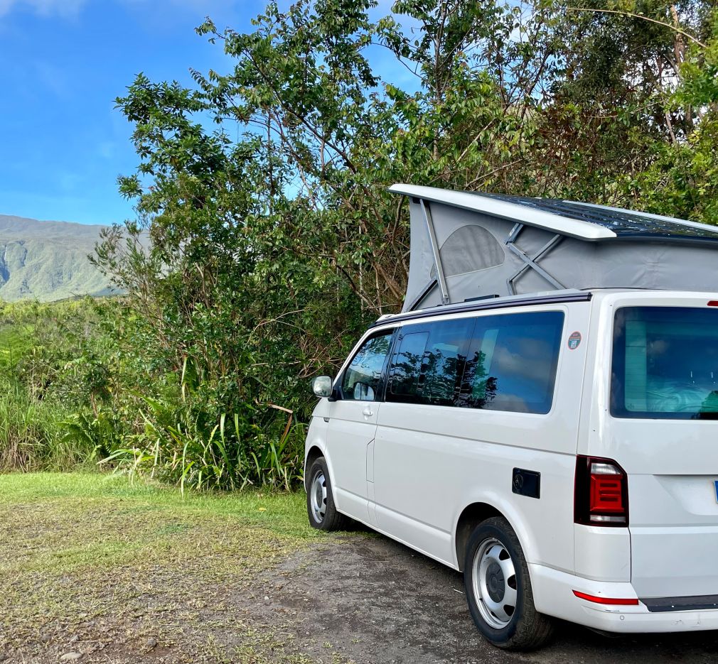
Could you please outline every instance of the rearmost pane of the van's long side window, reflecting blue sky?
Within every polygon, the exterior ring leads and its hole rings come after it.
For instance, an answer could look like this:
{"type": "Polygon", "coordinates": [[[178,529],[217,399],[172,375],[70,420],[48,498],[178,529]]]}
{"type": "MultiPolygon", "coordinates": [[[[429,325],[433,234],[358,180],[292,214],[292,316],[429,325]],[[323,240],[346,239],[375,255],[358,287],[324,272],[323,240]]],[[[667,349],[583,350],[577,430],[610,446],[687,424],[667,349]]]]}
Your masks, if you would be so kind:
{"type": "Polygon", "coordinates": [[[560,311],[477,318],[458,405],[549,412],[563,327],[560,311]]]}

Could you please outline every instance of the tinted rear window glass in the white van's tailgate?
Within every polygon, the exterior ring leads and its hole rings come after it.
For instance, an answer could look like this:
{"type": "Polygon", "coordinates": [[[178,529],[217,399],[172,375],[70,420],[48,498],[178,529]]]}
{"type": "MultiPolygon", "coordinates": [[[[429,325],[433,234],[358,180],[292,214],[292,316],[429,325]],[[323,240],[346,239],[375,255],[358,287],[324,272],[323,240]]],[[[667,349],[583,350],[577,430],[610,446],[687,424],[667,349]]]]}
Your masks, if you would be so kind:
{"type": "Polygon", "coordinates": [[[618,309],[611,414],[718,419],[718,309],[618,309]]]}

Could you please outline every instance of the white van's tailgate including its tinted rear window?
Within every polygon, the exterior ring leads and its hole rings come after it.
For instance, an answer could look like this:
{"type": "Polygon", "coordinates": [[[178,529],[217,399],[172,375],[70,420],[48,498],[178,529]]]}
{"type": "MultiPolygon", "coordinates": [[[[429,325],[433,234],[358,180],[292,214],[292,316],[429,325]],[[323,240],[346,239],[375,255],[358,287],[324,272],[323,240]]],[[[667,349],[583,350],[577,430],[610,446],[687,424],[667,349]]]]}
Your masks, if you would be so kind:
{"type": "Polygon", "coordinates": [[[628,300],[606,311],[602,445],[628,474],[631,582],[642,599],[694,598],[685,608],[718,602],[718,308],[708,301],[628,300]]]}

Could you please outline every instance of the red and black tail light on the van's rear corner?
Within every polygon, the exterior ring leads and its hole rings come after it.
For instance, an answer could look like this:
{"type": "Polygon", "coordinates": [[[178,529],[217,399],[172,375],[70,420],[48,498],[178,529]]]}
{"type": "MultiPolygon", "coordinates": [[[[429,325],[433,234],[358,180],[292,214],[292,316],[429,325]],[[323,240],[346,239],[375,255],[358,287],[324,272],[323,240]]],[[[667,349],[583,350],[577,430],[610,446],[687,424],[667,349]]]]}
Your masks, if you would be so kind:
{"type": "Polygon", "coordinates": [[[628,526],[628,481],[615,461],[576,457],[574,522],[585,526],[628,526]]]}

